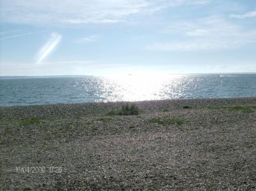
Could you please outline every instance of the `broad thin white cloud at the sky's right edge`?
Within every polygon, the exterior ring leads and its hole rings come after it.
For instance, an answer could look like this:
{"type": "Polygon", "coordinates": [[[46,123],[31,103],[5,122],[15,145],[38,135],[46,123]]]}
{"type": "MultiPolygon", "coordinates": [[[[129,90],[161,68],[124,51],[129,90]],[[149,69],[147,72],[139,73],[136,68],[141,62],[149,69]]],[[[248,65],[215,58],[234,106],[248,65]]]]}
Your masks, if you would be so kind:
{"type": "Polygon", "coordinates": [[[180,22],[167,27],[164,33],[177,38],[173,42],[153,43],[146,46],[145,50],[222,50],[256,42],[256,29],[245,29],[239,25],[231,24],[222,17],[208,17],[193,22],[180,22]]]}

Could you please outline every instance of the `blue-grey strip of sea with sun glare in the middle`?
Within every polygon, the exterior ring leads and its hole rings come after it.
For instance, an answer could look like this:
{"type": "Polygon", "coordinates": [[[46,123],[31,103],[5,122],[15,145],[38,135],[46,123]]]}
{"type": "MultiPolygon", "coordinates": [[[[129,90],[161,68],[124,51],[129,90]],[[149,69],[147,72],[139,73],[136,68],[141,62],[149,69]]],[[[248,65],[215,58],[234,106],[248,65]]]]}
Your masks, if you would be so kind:
{"type": "Polygon", "coordinates": [[[166,74],[0,80],[0,106],[256,97],[256,74],[166,74]]]}

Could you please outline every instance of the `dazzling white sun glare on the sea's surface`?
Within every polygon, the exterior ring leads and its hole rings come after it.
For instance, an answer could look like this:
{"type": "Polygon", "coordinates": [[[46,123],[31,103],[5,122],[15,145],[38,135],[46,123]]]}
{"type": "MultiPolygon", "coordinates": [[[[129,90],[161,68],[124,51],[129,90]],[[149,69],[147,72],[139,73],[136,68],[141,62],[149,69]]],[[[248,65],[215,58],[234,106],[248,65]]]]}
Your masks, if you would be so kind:
{"type": "Polygon", "coordinates": [[[166,86],[178,83],[176,75],[163,73],[136,73],[108,76],[104,91],[113,90],[108,101],[143,101],[166,99],[166,86]]]}

